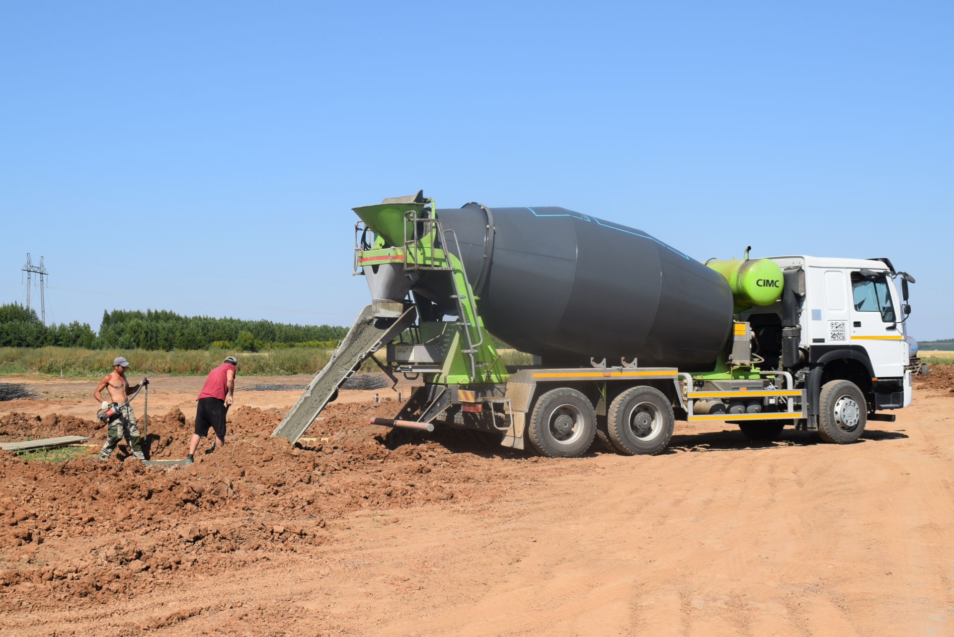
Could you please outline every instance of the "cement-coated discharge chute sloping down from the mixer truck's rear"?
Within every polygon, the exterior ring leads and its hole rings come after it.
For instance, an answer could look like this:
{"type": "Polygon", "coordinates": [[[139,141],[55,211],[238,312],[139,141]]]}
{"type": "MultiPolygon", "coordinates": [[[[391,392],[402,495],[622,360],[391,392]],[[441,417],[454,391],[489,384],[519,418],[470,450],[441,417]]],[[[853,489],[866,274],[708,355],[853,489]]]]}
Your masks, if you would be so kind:
{"type": "Polygon", "coordinates": [[[365,359],[410,326],[415,317],[413,307],[399,317],[383,317],[375,313],[373,305],[365,306],[348,330],[342,344],[332,354],[331,360],[311,380],[311,384],[272,435],[284,436],[290,442],[298,442],[342,383],[350,378],[365,359]]]}

